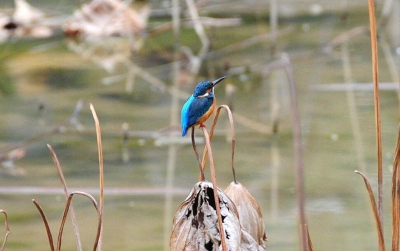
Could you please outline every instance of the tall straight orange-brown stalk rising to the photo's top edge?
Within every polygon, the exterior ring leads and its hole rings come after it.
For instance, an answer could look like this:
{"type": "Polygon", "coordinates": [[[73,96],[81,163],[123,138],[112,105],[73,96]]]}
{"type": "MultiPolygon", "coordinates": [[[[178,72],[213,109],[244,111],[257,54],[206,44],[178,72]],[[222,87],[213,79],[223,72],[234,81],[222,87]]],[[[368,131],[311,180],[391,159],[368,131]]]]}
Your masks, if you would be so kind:
{"type": "Polygon", "coordinates": [[[372,54],[372,80],[373,80],[373,103],[375,108],[375,128],[376,128],[376,146],[377,146],[377,172],[378,172],[378,213],[379,224],[383,228],[383,175],[382,175],[382,139],[380,128],[380,108],[379,108],[379,85],[378,85],[378,52],[376,37],[375,6],[373,0],[368,0],[369,28],[371,37],[372,54]]]}

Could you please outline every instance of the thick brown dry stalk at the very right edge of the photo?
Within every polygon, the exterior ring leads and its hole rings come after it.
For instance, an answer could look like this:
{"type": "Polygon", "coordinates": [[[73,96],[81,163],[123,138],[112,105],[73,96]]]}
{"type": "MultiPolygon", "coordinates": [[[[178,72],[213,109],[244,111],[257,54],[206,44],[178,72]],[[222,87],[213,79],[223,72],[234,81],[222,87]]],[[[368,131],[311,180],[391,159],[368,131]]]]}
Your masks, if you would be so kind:
{"type": "Polygon", "coordinates": [[[392,235],[391,250],[398,251],[399,227],[400,227],[400,126],[397,134],[397,145],[393,162],[393,176],[391,179],[391,215],[392,235]]]}

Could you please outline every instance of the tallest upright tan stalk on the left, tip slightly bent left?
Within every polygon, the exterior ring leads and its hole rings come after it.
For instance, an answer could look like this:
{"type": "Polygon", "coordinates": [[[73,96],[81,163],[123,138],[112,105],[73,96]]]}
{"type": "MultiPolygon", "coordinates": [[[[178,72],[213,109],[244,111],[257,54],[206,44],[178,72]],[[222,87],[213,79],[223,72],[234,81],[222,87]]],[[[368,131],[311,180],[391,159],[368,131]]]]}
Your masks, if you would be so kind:
{"type": "Polygon", "coordinates": [[[104,218],[104,165],[103,165],[103,151],[101,144],[101,131],[100,131],[100,122],[98,121],[98,117],[96,111],[94,110],[93,105],[90,103],[90,111],[94,119],[94,124],[96,127],[96,138],[97,138],[97,150],[98,150],[98,167],[99,167],[99,207],[98,211],[100,214],[99,220],[99,236],[98,236],[98,250],[102,250],[102,222],[104,218]]]}

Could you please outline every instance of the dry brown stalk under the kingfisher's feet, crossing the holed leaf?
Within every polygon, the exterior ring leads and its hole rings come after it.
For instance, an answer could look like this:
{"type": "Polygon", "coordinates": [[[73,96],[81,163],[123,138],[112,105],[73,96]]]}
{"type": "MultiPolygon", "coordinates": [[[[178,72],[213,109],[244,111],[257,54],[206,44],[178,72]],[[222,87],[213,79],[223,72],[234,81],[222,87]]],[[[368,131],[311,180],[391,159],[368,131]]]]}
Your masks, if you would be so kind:
{"type": "Polygon", "coordinates": [[[214,168],[214,160],[212,158],[210,140],[209,140],[208,132],[205,129],[205,127],[201,126],[200,128],[202,129],[202,131],[204,133],[205,146],[207,147],[207,152],[208,152],[209,169],[211,172],[211,181],[212,181],[212,186],[213,186],[212,190],[214,193],[214,200],[215,200],[215,210],[216,210],[216,215],[218,216],[219,236],[221,238],[222,251],[227,251],[225,232],[224,232],[223,226],[222,226],[221,210],[219,208],[219,199],[218,199],[218,191],[217,191],[218,186],[216,185],[216,174],[215,174],[215,168],[214,168]]]}

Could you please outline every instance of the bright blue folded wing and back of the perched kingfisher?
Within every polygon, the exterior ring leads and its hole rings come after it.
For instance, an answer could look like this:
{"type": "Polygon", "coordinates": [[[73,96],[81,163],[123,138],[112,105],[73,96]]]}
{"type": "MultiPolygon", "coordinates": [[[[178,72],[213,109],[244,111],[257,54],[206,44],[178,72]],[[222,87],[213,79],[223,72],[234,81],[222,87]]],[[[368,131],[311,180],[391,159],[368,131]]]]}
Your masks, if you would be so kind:
{"type": "Polygon", "coordinates": [[[212,97],[194,97],[191,95],[183,104],[181,110],[182,136],[187,129],[198,122],[198,119],[207,112],[212,105],[212,97]]]}

